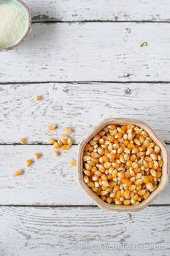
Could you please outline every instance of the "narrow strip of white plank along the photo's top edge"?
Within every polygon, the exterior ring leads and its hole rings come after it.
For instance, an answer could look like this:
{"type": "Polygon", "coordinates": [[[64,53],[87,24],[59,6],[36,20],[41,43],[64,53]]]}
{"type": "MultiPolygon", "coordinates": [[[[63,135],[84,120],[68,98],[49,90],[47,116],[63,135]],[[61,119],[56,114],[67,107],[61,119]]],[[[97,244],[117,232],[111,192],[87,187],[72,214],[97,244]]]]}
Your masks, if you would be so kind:
{"type": "Polygon", "coordinates": [[[40,21],[169,21],[168,0],[25,0],[32,20],[40,21]]]}

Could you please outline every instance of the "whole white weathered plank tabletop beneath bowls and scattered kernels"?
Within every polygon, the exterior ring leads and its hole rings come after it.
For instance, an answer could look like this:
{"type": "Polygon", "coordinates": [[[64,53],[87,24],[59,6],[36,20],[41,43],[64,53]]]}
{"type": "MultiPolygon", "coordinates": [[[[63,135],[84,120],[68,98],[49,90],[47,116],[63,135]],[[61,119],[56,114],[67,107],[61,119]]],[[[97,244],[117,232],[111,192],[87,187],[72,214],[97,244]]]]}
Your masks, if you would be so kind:
{"type": "Polygon", "coordinates": [[[110,116],[146,121],[170,148],[170,1],[25,2],[32,34],[0,54],[0,255],[170,255],[169,186],[139,213],[107,212],[70,166],[81,139],[110,116]],[[54,136],[74,128],[75,145],[58,158],[50,123],[54,136]],[[42,158],[24,168],[35,152],[42,158]]]}

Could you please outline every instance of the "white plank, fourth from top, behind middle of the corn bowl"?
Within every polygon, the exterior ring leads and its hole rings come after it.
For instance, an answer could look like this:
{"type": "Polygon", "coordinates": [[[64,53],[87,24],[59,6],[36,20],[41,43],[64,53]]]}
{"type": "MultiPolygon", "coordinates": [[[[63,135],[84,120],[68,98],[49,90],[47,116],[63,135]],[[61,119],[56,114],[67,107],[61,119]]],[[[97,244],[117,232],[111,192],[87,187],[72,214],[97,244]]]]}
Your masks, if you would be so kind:
{"type": "MultiPolygon", "coordinates": [[[[76,167],[70,165],[77,146],[58,157],[52,155],[52,145],[1,145],[0,150],[0,205],[94,205],[77,183],[76,167]],[[24,161],[35,152],[42,157],[25,168],[24,161]],[[14,177],[19,168],[24,174],[14,177]]],[[[170,204],[169,194],[167,186],[153,204],[170,204]]]]}

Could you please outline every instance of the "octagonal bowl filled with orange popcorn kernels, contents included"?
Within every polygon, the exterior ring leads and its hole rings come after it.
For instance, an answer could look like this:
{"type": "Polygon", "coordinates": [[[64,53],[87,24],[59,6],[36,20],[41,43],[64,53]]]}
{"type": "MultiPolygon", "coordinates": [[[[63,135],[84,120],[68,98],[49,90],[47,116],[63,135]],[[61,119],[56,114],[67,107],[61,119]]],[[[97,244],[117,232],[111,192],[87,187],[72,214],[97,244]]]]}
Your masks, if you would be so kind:
{"type": "Polygon", "coordinates": [[[169,153],[143,121],[106,119],[79,145],[81,187],[101,208],[146,208],[166,187],[169,153]]]}

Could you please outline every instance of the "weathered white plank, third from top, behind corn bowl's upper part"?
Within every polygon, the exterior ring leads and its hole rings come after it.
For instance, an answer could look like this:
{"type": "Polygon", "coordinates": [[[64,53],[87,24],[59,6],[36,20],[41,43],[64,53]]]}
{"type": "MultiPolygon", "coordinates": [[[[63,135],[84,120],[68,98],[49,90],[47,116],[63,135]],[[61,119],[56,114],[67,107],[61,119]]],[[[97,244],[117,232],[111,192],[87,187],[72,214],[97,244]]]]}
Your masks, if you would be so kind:
{"type": "Polygon", "coordinates": [[[63,128],[74,129],[76,143],[105,118],[129,117],[146,121],[170,142],[169,84],[27,84],[0,86],[0,142],[47,143],[63,128]],[[42,101],[35,101],[42,95],[42,101]],[[48,124],[58,124],[48,132],[48,124]]]}

